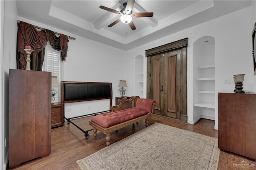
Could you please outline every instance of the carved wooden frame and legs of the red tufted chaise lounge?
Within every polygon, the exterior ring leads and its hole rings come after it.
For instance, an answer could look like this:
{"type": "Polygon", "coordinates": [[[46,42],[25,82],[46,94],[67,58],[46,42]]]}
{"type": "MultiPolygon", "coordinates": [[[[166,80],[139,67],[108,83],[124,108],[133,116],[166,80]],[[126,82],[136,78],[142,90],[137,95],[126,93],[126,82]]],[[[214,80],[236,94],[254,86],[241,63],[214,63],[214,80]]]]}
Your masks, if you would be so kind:
{"type": "MultiPolygon", "coordinates": [[[[135,97],[128,97],[128,98],[125,97],[125,98],[119,99],[118,100],[118,105],[112,106],[110,108],[110,110],[112,112],[116,112],[116,111],[128,109],[130,107],[136,107],[137,99],[140,99],[140,97],[139,96],[135,96],[135,97]]],[[[94,127],[94,129],[93,129],[94,138],[96,138],[97,131],[99,130],[100,132],[106,134],[106,145],[108,146],[108,145],[110,145],[110,134],[114,130],[118,130],[118,129],[126,127],[128,125],[132,125],[133,123],[142,121],[144,119],[146,119],[145,123],[146,123],[146,127],[148,127],[147,119],[148,119],[148,116],[153,113],[153,108],[154,108],[155,105],[156,105],[156,102],[154,101],[154,103],[152,105],[152,109],[151,109],[152,111],[151,111],[151,113],[148,113],[147,115],[143,115],[143,116],[137,117],[135,119],[131,119],[129,121],[125,121],[123,123],[119,123],[117,125],[114,125],[114,126],[111,126],[111,127],[108,127],[108,128],[104,128],[104,127],[102,127],[102,126],[100,126],[100,125],[98,125],[98,124],[96,124],[96,123],[94,123],[92,121],[89,121],[89,125],[94,127]]]]}

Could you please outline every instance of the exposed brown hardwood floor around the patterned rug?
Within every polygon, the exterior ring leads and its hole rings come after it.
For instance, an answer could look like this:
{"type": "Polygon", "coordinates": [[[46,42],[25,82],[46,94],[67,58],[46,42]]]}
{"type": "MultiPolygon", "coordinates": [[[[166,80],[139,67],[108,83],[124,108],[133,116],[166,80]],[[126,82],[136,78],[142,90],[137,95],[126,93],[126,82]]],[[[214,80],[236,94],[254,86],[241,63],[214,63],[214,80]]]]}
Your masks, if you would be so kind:
{"type": "MultiPolygon", "coordinates": [[[[74,123],[79,125],[84,130],[89,130],[92,127],[88,125],[89,120],[92,118],[84,117],[73,120],[74,123]]],[[[200,119],[195,125],[180,123],[176,119],[170,119],[159,115],[152,115],[149,119],[150,125],[154,122],[170,125],[192,132],[205,134],[207,136],[218,138],[218,130],[214,130],[215,122],[208,119],[200,119]]],[[[145,128],[145,122],[140,121],[133,125],[129,125],[120,130],[112,132],[111,143],[121,140],[130,134],[138,132],[145,128]]],[[[37,158],[25,163],[22,163],[16,170],[80,170],[76,160],[85,158],[105,147],[105,135],[97,132],[97,138],[93,137],[93,132],[89,132],[90,136],[85,139],[82,133],[74,125],[70,124],[63,127],[52,129],[52,152],[49,156],[44,158],[37,158]]],[[[256,169],[256,162],[249,160],[237,154],[220,151],[220,158],[218,170],[245,170],[256,169]],[[247,164],[254,164],[254,166],[238,166],[242,161],[247,164]]]]}

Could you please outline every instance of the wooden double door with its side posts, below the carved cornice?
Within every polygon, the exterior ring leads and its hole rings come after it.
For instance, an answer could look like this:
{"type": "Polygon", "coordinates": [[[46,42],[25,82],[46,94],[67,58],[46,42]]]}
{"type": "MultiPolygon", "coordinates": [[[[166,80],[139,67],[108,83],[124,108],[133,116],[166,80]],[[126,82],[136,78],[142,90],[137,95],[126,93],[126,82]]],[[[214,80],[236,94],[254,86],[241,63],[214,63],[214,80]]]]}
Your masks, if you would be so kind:
{"type": "Polygon", "coordinates": [[[186,47],[148,57],[147,98],[154,113],[187,123],[186,47]]]}

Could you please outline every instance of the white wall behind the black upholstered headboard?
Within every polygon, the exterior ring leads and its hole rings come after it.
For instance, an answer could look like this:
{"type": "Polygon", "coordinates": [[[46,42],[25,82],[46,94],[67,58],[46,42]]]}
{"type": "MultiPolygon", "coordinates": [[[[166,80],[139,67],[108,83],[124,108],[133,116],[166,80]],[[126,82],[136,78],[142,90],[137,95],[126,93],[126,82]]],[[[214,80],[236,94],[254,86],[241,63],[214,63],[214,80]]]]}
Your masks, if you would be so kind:
{"type": "MultiPolygon", "coordinates": [[[[76,40],[68,42],[68,53],[64,61],[63,81],[110,82],[113,89],[112,105],[115,97],[120,97],[119,80],[127,81],[126,95],[133,95],[130,91],[132,73],[123,68],[124,51],[98,43],[86,38],[75,36],[76,40]]],[[[86,101],[80,103],[66,103],[65,116],[75,117],[99,111],[109,110],[109,100],[86,101]],[[72,111],[68,112],[67,108],[72,111]]]]}

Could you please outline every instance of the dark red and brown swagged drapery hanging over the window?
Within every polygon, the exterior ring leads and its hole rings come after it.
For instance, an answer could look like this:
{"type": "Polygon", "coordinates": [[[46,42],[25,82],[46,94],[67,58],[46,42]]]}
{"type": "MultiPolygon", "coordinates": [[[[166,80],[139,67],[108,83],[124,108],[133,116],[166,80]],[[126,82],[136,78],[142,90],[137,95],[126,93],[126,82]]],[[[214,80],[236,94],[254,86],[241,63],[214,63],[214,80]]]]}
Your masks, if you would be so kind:
{"type": "Polygon", "coordinates": [[[24,48],[28,45],[33,50],[30,55],[30,69],[42,71],[47,40],[54,49],[61,50],[61,59],[62,61],[65,60],[68,51],[68,36],[60,34],[57,37],[50,30],[38,31],[33,25],[20,21],[18,23],[17,36],[17,69],[26,69],[26,52],[24,48]]]}

